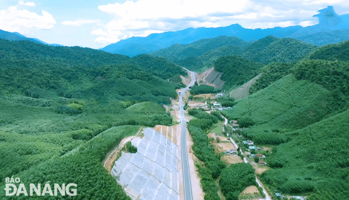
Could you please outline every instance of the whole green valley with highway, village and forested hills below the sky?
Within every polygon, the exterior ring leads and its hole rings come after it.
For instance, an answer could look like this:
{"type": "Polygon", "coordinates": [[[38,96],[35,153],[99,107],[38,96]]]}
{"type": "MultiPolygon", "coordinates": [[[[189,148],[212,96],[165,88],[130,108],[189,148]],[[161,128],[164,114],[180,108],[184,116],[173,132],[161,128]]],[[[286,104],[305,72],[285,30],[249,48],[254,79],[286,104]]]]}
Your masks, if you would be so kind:
{"type": "Polygon", "coordinates": [[[348,198],[349,40],[320,25],[133,57],[0,32],[0,199],[27,198],[9,177],[76,184],[55,199],[348,198]]]}

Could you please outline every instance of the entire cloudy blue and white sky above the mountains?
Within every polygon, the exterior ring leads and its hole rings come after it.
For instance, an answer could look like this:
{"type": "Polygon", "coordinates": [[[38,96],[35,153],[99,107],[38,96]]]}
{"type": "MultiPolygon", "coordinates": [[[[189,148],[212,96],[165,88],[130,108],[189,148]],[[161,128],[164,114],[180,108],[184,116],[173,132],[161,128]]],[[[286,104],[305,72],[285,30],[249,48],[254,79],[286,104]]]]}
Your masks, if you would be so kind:
{"type": "Polygon", "coordinates": [[[318,10],[349,14],[349,0],[0,0],[0,29],[49,44],[98,49],[133,36],[186,28],[274,28],[318,23],[318,10]]]}

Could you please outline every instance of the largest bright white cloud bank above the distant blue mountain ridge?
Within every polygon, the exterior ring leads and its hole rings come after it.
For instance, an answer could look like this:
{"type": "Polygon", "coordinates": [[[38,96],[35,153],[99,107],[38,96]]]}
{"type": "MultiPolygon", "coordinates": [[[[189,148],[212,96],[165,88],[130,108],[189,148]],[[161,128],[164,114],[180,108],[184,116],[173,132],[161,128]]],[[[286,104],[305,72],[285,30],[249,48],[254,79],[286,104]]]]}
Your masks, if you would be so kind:
{"type": "MultiPolygon", "coordinates": [[[[92,31],[96,42],[115,43],[132,36],[193,27],[239,23],[245,28],[273,28],[318,23],[318,9],[348,0],[139,0],[98,6],[112,20],[92,31]]],[[[335,7],[336,8],[336,7],[335,7]]]]}

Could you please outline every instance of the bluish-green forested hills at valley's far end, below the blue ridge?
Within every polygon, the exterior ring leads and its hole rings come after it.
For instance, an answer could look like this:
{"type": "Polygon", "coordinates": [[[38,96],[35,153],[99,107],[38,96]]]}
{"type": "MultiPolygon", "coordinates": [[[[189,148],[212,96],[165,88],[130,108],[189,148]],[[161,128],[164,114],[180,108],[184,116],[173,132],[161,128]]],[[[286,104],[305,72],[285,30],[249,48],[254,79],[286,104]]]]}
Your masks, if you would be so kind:
{"type": "MultiPolygon", "coordinates": [[[[205,71],[216,66],[221,57],[238,55],[253,62],[296,62],[316,46],[297,39],[267,36],[255,42],[237,37],[219,36],[191,44],[174,44],[149,55],[163,57],[192,71],[205,71]]],[[[237,84],[237,83],[235,83],[237,84]]]]}

